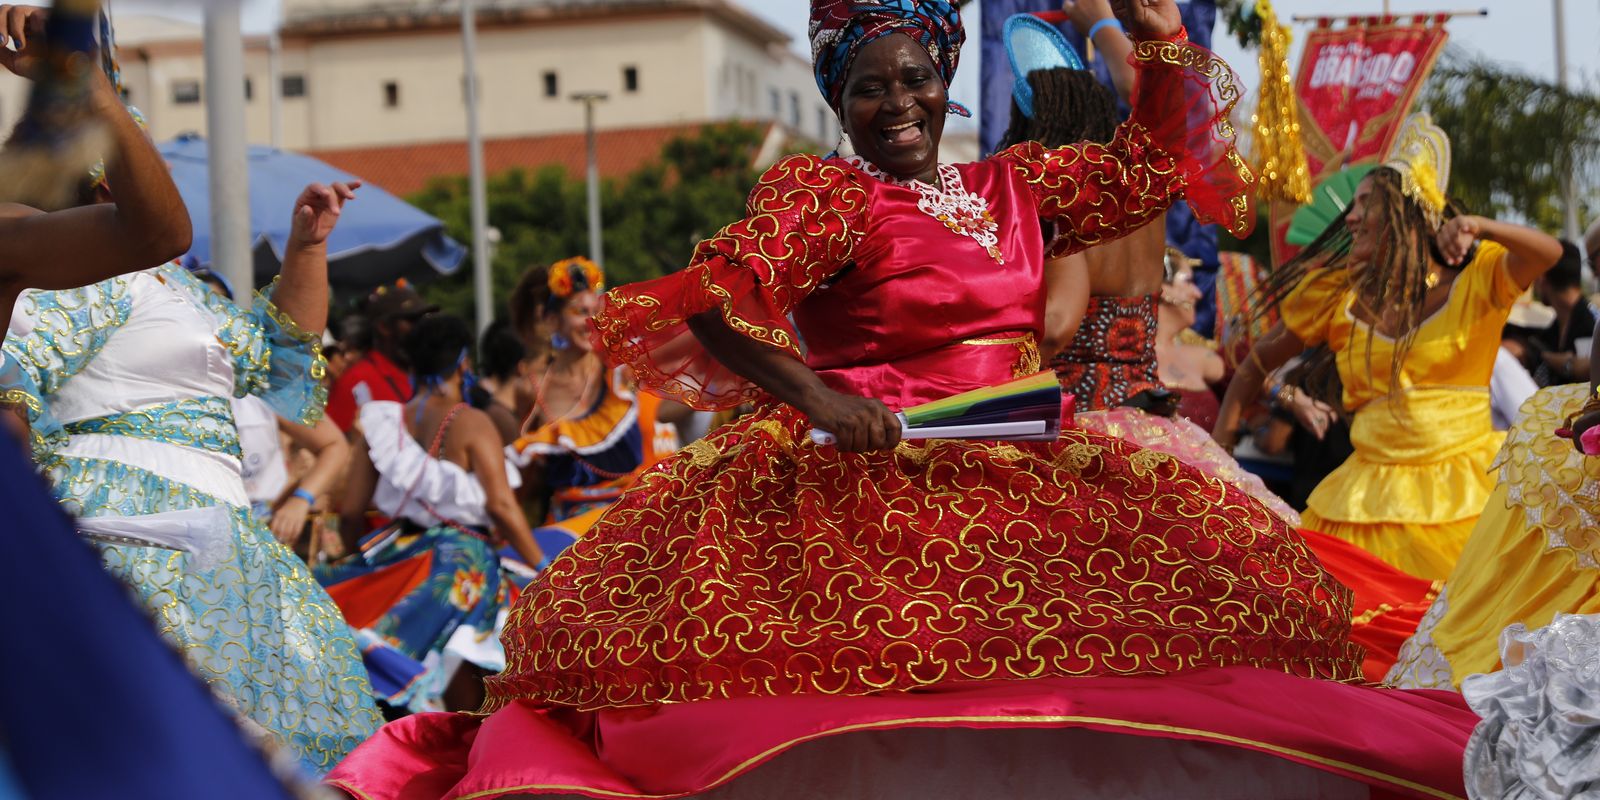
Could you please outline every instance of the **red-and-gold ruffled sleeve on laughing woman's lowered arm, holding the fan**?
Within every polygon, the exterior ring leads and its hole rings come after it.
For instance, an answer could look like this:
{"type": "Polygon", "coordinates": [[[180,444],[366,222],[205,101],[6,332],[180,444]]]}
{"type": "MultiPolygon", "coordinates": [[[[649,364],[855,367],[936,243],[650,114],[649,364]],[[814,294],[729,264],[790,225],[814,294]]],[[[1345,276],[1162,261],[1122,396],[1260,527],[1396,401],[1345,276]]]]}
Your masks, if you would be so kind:
{"type": "Polygon", "coordinates": [[[688,320],[720,309],[733,331],[798,358],[787,315],[851,261],[867,214],[858,181],[816,155],[778,162],[750,192],[746,218],[701,242],[688,267],[605,294],[595,346],[645,389],[693,408],[755,398],[755,384],[712,357],[688,320]]]}

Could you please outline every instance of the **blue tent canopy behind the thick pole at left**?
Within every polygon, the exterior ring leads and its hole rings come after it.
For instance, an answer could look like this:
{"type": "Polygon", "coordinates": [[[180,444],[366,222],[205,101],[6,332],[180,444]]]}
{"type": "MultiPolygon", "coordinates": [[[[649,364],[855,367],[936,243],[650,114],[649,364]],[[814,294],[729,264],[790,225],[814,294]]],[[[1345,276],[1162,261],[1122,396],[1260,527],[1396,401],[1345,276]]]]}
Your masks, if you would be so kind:
{"type": "MultiPolygon", "coordinates": [[[[179,136],[160,146],[173,181],[194,221],[194,246],[184,266],[211,262],[211,192],[206,176],[206,141],[179,136]]],[[[278,274],[290,237],[294,198],[309,182],[352,181],[357,176],[309,155],[251,146],[250,230],[256,285],[278,274]]],[[[328,280],[334,291],[363,293],[397,278],[426,283],[461,269],[466,248],[445,235],[445,224],[406,202],[378,189],[362,187],[344,206],[339,226],[328,238],[328,280]]]]}

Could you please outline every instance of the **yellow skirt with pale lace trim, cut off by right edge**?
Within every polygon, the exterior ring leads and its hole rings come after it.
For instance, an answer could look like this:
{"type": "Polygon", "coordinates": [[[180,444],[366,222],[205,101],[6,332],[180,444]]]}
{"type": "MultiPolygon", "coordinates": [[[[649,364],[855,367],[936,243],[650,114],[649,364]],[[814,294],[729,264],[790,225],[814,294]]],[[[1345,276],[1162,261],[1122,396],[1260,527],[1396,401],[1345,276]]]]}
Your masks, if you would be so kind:
{"type": "Polygon", "coordinates": [[[1589,386],[1571,384],[1522,405],[1488,507],[1387,683],[1459,688],[1499,667],[1499,632],[1514,622],[1600,614],[1600,458],[1555,437],[1587,400],[1589,386]]]}

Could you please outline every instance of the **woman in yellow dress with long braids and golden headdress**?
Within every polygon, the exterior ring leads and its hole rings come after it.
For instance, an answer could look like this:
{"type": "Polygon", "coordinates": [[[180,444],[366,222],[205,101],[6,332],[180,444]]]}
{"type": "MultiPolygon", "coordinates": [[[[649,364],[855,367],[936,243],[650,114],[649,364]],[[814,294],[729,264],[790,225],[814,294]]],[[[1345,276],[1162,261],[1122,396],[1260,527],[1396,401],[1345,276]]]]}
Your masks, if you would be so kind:
{"type": "Polygon", "coordinates": [[[1456,214],[1445,198],[1450,139],[1406,120],[1389,160],[1344,218],[1262,291],[1283,317],[1256,342],[1213,435],[1232,446],[1266,376],[1328,344],[1355,453],[1315,491],[1302,525],[1430,581],[1450,576],[1494,486],[1504,434],[1490,373],[1512,302],[1562,254],[1538,230],[1456,214]]]}

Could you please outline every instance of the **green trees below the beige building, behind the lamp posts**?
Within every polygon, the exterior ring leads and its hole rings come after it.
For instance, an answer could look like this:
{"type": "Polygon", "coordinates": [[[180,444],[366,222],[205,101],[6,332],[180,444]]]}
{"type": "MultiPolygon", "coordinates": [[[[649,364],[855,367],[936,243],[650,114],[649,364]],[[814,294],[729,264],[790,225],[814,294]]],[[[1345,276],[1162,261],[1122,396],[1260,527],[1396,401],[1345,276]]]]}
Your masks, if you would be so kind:
{"type": "MultiPolygon", "coordinates": [[[[661,158],[622,179],[602,181],[600,219],[606,283],[619,286],[666,275],[688,264],[694,245],[744,216],[744,198],[758,178],[755,154],[765,128],[744,123],[707,125],[669,141],[661,158]]],[[[534,173],[510,170],[490,178],[493,245],[490,285],[494,314],[522,272],[589,253],[589,195],[582,176],[560,166],[534,173]]],[[[466,178],[437,178],[410,198],[445,222],[458,242],[472,242],[466,178]]],[[[472,318],[472,261],[451,275],[419,286],[442,309],[472,318]]]]}

